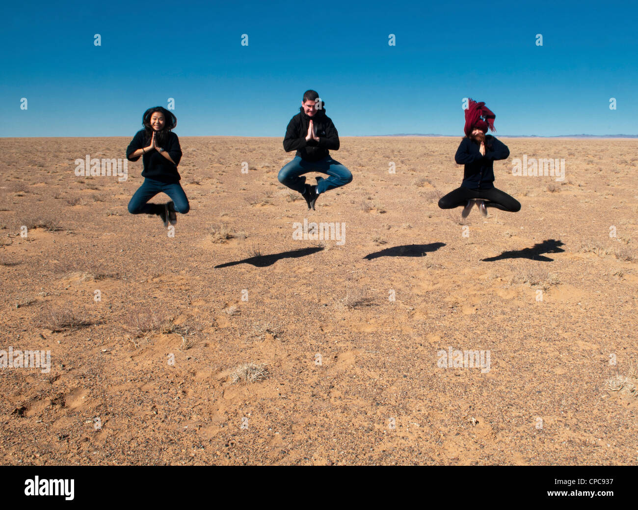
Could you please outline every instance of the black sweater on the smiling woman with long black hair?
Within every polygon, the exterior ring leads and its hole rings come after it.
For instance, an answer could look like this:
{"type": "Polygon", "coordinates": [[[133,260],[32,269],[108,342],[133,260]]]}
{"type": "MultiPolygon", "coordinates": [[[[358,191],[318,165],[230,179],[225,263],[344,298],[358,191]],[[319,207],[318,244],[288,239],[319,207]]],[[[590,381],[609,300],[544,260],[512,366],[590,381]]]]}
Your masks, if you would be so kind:
{"type": "MultiPolygon", "coordinates": [[[[150,141],[145,139],[145,130],[140,129],[131,140],[131,143],[128,144],[128,148],[126,148],[126,159],[137,161],[140,158],[139,156],[131,158],[130,155],[138,149],[149,146],[149,143],[150,141]]],[[[179,165],[179,160],[182,158],[182,149],[179,146],[179,138],[174,132],[168,132],[168,141],[165,145],[162,148],[168,152],[175,164],[172,164],[157,150],[152,149],[142,155],[142,163],[144,164],[142,177],[166,183],[179,182],[181,176],[177,171],[177,165],[179,165]]]]}

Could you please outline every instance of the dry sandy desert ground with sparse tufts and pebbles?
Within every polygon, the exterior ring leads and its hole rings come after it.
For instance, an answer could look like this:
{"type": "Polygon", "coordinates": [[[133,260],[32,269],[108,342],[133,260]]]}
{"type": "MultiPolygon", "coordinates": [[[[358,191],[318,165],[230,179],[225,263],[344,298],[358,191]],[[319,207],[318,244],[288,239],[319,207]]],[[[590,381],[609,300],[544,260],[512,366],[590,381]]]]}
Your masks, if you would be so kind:
{"type": "Polygon", "coordinates": [[[75,175],[131,137],[0,140],[0,350],[50,351],[0,368],[0,463],[638,461],[638,141],[502,138],[521,211],[462,220],[460,136],[342,137],[353,181],[316,211],[281,138],[181,137],[171,232],[128,213],[141,158],[75,175]]]}

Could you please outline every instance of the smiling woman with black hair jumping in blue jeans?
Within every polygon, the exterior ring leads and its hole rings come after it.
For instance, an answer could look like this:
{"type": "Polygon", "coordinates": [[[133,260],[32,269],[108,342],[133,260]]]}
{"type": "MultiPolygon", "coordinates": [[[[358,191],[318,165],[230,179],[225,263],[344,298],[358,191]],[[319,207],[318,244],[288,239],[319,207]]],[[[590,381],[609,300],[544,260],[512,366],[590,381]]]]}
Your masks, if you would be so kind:
{"type": "Polygon", "coordinates": [[[167,227],[177,223],[175,212],[186,214],[190,206],[188,198],[179,184],[181,177],[177,165],[182,158],[179,138],[172,132],[177,118],[167,109],[156,106],[142,116],[141,129],[135,134],[126,149],[126,158],[137,161],[142,156],[144,183],[133,194],[128,203],[131,214],[156,214],[167,227]],[[167,194],[172,200],[165,204],[149,204],[158,193],[167,194]]]}

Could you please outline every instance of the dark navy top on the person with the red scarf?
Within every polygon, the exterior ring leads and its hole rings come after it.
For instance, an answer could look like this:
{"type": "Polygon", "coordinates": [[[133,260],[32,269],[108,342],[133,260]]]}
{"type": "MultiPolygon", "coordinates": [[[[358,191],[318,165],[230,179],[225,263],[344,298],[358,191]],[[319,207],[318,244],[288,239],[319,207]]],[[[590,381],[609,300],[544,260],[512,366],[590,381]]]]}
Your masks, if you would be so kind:
{"type": "Polygon", "coordinates": [[[491,189],[494,187],[494,161],[506,159],[510,155],[507,146],[492,135],[485,137],[485,155],[479,151],[479,144],[470,138],[461,140],[454,160],[465,165],[461,186],[469,189],[491,189]]]}

